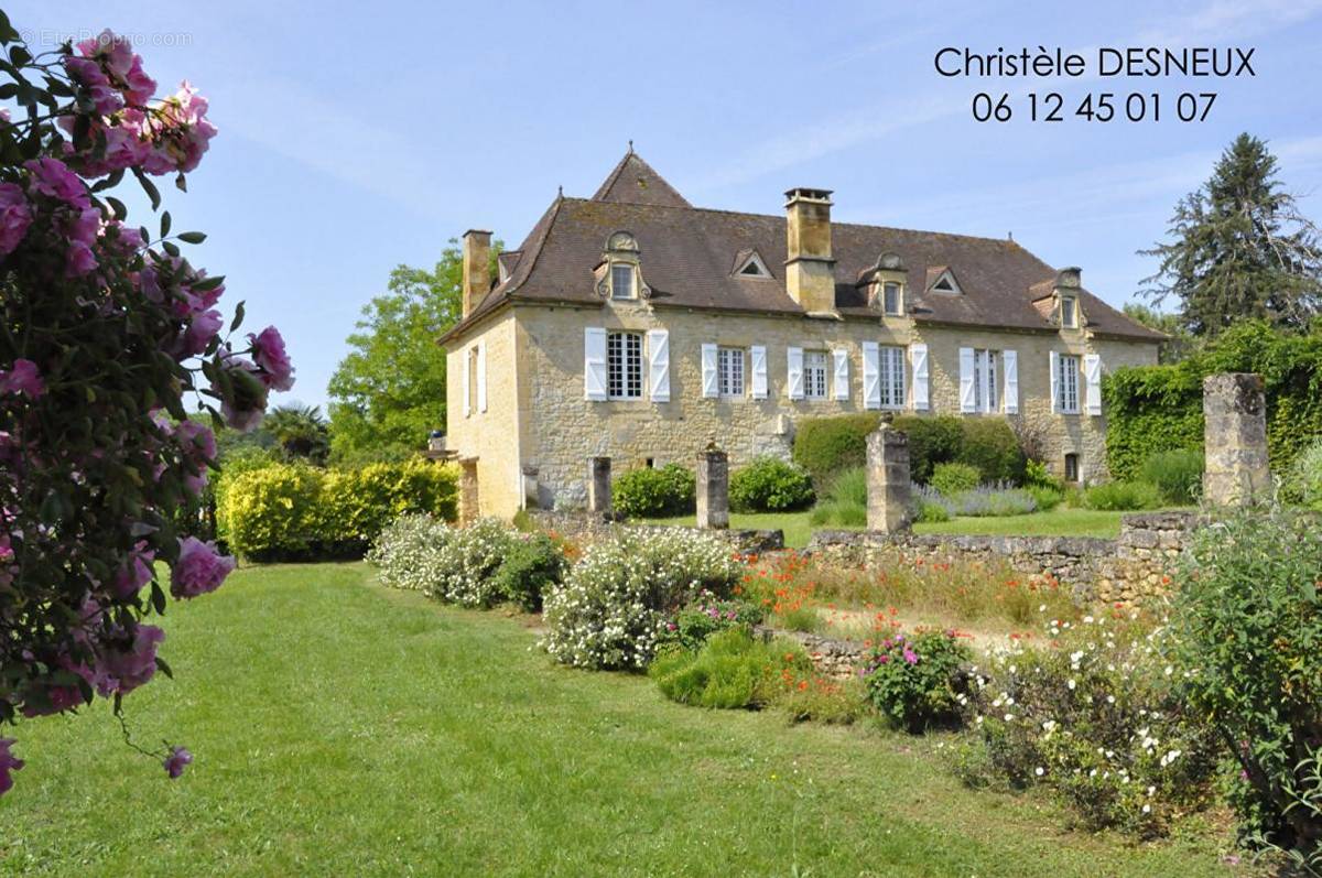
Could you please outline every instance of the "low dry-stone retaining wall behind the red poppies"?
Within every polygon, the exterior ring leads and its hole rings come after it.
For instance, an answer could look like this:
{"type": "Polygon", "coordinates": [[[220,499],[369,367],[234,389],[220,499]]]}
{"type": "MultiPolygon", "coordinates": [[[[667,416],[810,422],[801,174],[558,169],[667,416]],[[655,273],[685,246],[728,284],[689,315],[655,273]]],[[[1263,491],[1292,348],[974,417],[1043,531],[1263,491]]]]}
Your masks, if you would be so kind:
{"type": "Polygon", "coordinates": [[[1165,594],[1196,521],[1187,512],[1125,516],[1117,539],[818,530],[808,551],[850,567],[884,567],[917,558],[1001,561],[1025,575],[1054,577],[1080,603],[1142,603],[1165,594]]]}

